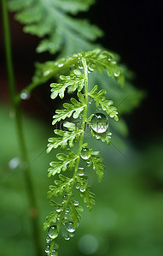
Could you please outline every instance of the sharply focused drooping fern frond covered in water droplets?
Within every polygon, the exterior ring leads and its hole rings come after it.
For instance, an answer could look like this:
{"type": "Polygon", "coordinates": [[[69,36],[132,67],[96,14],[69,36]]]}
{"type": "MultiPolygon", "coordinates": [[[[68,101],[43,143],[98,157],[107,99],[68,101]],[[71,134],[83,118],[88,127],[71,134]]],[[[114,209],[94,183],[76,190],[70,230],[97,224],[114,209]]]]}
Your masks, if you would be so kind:
{"type": "MultiPolygon", "coordinates": [[[[49,168],[49,176],[58,175],[55,178],[55,185],[49,186],[48,199],[50,204],[54,206],[54,211],[50,212],[44,223],[44,229],[48,229],[48,245],[45,252],[48,255],[58,255],[58,245],[56,238],[59,232],[66,240],[73,237],[75,229],[77,229],[80,220],[80,211],[83,208],[79,205],[79,201],[75,199],[75,190],[79,191],[80,197],[84,200],[86,206],[92,209],[95,205],[95,194],[90,191],[89,177],[84,172],[84,165],[96,171],[98,181],[102,181],[103,170],[105,166],[102,164],[100,152],[94,152],[89,148],[86,137],[88,129],[90,134],[95,136],[97,140],[102,140],[110,144],[111,133],[108,131],[108,116],[118,121],[118,112],[114,107],[114,102],[105,98],[107,93],[105,90],[98,91],[98,86],[94,86],[90,91],[89,76],[91,72],[106,69],[109,76],[115,80],[123,82],[123,76],[117,63],[114,61],[113,54],[108,51],[88,51],[79,53],[69,57],[71,65],[69,66],[69,74],[67,76],[60,75],[59,83],[52,83],[51,98],[57,96],[64,98],[64,93],[77,92],[77,98],[71,98],[71,104],[64,103],[63,110],[56,110],[54,120],[62,123],[62,129],[55,129],[55,137],[49,138],[47,152],[51,152],[61,146],[62,151],[67,153],[58,153],[57,161],[51,162],[49,168]],[[95,112],[88,116],[89,101],[96,102],[96,108],[105,112],[95,112]],[[67,118],[73,116],[76,122],[67,122],[67,118]],[[77,125],[79,123],[79,125],[77,125]],[[73,151],[72,148],[78,143],[78,148],[73,151]],[[67,176],[63,176],[63,172],[67,170],[67,176]],[[59,202],[54,201],[54,197],[61,197],[59,202]],[[62,230],[61,230],[62,229],[62,230]]],[[[67,59],[57,63],[63,67],[67,59]]]]}

